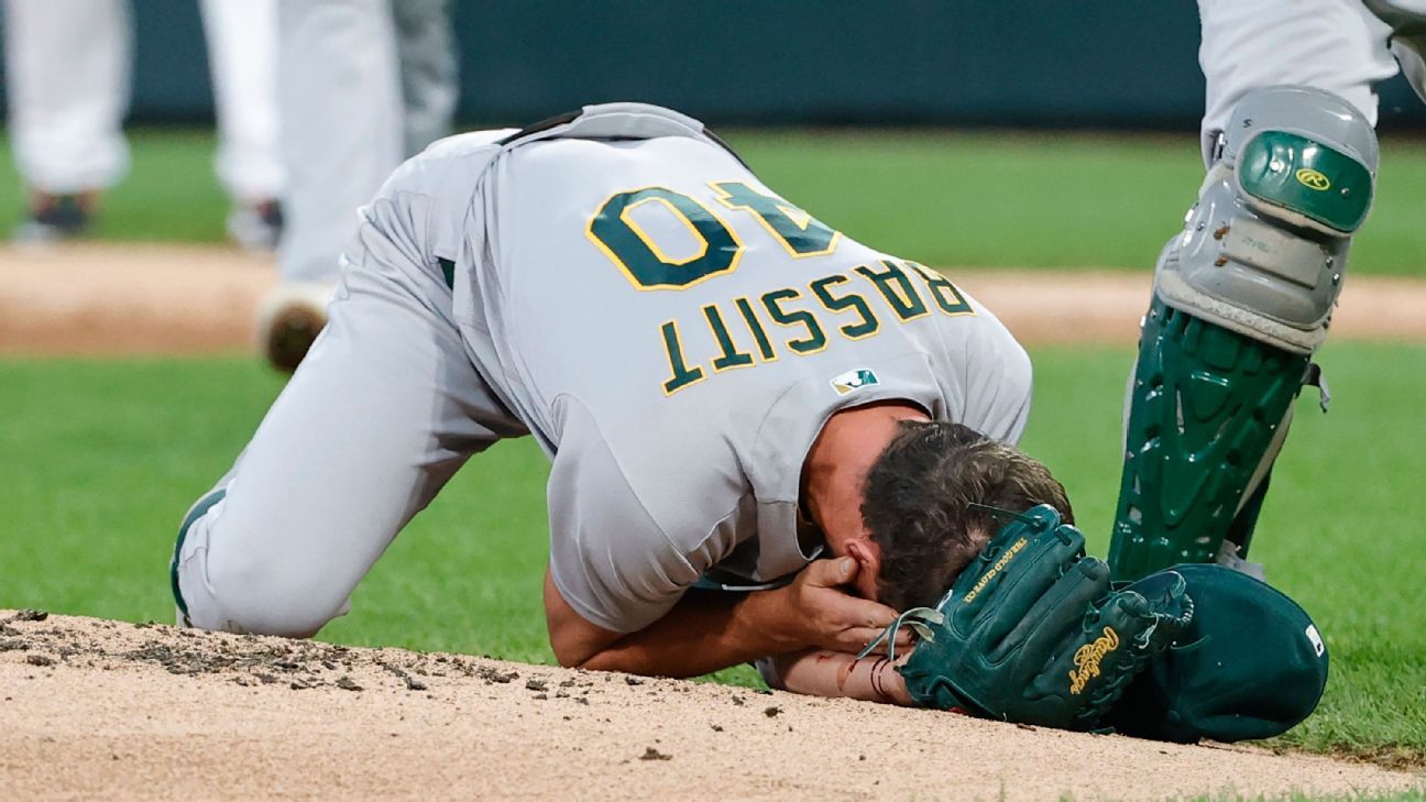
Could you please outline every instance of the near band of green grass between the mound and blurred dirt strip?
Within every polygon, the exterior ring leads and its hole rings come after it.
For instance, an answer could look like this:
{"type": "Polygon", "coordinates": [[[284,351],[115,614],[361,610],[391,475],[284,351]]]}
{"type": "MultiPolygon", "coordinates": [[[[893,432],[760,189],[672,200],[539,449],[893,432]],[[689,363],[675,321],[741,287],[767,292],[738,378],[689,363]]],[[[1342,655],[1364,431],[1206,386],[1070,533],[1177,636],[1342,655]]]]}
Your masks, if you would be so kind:
{"type": "MultiPolygon", "coordinates": [[[[1132,354],[1041,348],[1025,447],[1104,554],[1132,354]]],[[[1330,344],[1329,415],[1299,404],[1253,557],[1320,624],[1332,679],[1286,745],[1426,765],[1426,348],[1330,344]]],[[[184,508],[231,462],[279,380],[251,358],[0,361],[0,606],[173,615],[184,508]]],[[[399,537],[322,638],[550,662],[540,612],[548,465],[528,440],[475,460],[399,537]]],[[[720,679],[753,684],[746,669],[720,679]]]]}

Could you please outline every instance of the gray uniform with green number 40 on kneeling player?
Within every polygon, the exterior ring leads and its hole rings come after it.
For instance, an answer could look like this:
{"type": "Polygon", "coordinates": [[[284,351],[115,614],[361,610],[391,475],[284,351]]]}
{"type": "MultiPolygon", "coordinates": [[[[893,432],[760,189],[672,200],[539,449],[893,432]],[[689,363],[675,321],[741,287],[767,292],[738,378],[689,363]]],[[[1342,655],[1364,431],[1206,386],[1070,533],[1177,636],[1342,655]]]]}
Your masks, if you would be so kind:
{"type": "Polygon", "coordinates": [[[332,325],[190,515],[175,587],[200,626],[315,631],[501,437],[553,461],[560,594],[630,632],[706,572],[769,582],[814,557],[799,484],[837,410],[1025,424],[1030,361],[994,315],[663,108],[443,140],[362,218],[332,325]]]}

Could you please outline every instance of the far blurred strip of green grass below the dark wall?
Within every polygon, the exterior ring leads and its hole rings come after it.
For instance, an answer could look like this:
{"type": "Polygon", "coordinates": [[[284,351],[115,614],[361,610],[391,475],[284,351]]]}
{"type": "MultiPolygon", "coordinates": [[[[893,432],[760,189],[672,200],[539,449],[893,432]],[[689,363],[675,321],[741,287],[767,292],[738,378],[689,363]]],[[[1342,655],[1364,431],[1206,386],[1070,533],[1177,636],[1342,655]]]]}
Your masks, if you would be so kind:
{"type": "MultiPolygon", "coordinates": [[[[938,267],[1149,270],[1194,201],[1194,134],[733,131],[759,176],[830,225],[938,267]]],[[[3,143],[0,143],[3,144],[3,143]]],[[[110,193],[97,235],[220,241],[227,200],[212,140],[188,130],[133,136],[134,166],[110,193]]],[[[1352,250],[1363,274],[1426,275],[1426,143],[1387,140],[1372,220],[1352,250]]],[[[9,160],[0,186],[17,187],[9,160]]],[[[21,211],[0,193],[0,225],[21,211]]]]}

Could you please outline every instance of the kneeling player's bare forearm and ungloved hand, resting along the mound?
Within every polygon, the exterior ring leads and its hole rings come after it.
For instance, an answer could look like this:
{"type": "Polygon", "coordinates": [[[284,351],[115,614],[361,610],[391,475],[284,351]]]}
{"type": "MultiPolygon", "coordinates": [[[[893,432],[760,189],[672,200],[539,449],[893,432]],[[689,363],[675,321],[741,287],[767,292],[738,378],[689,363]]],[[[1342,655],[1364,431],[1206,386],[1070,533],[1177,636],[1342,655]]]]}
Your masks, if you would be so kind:
{"type": "Polygon", "coordinates": [[[860,649],[891,624],[896,611],[838,589],[856,574],[856,561],[819,559],[783,588],[690,591],[663,618],[622,635],[582,618],[546,572],[545,618],[560,665],[696,676],[807,648],[860,649]]]}

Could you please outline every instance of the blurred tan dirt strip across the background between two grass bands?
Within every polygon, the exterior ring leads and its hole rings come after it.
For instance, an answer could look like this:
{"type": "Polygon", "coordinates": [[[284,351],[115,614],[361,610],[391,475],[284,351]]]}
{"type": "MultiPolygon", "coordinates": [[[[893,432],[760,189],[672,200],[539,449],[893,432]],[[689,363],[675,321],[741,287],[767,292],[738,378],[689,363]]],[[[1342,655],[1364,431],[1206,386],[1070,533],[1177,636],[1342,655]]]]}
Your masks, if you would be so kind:
{"type": "MultiPolygon", "coordinates": [[[[1132,344],[1147,273],[955,270],[1027,344],[1132,344]]],[[[245,351],[271,260],[177,245],[0,247],[0,354],[245,351]]],[[[1426,281],[1352,277],[1333,340],[1426,341],[1426,281]]]]}

